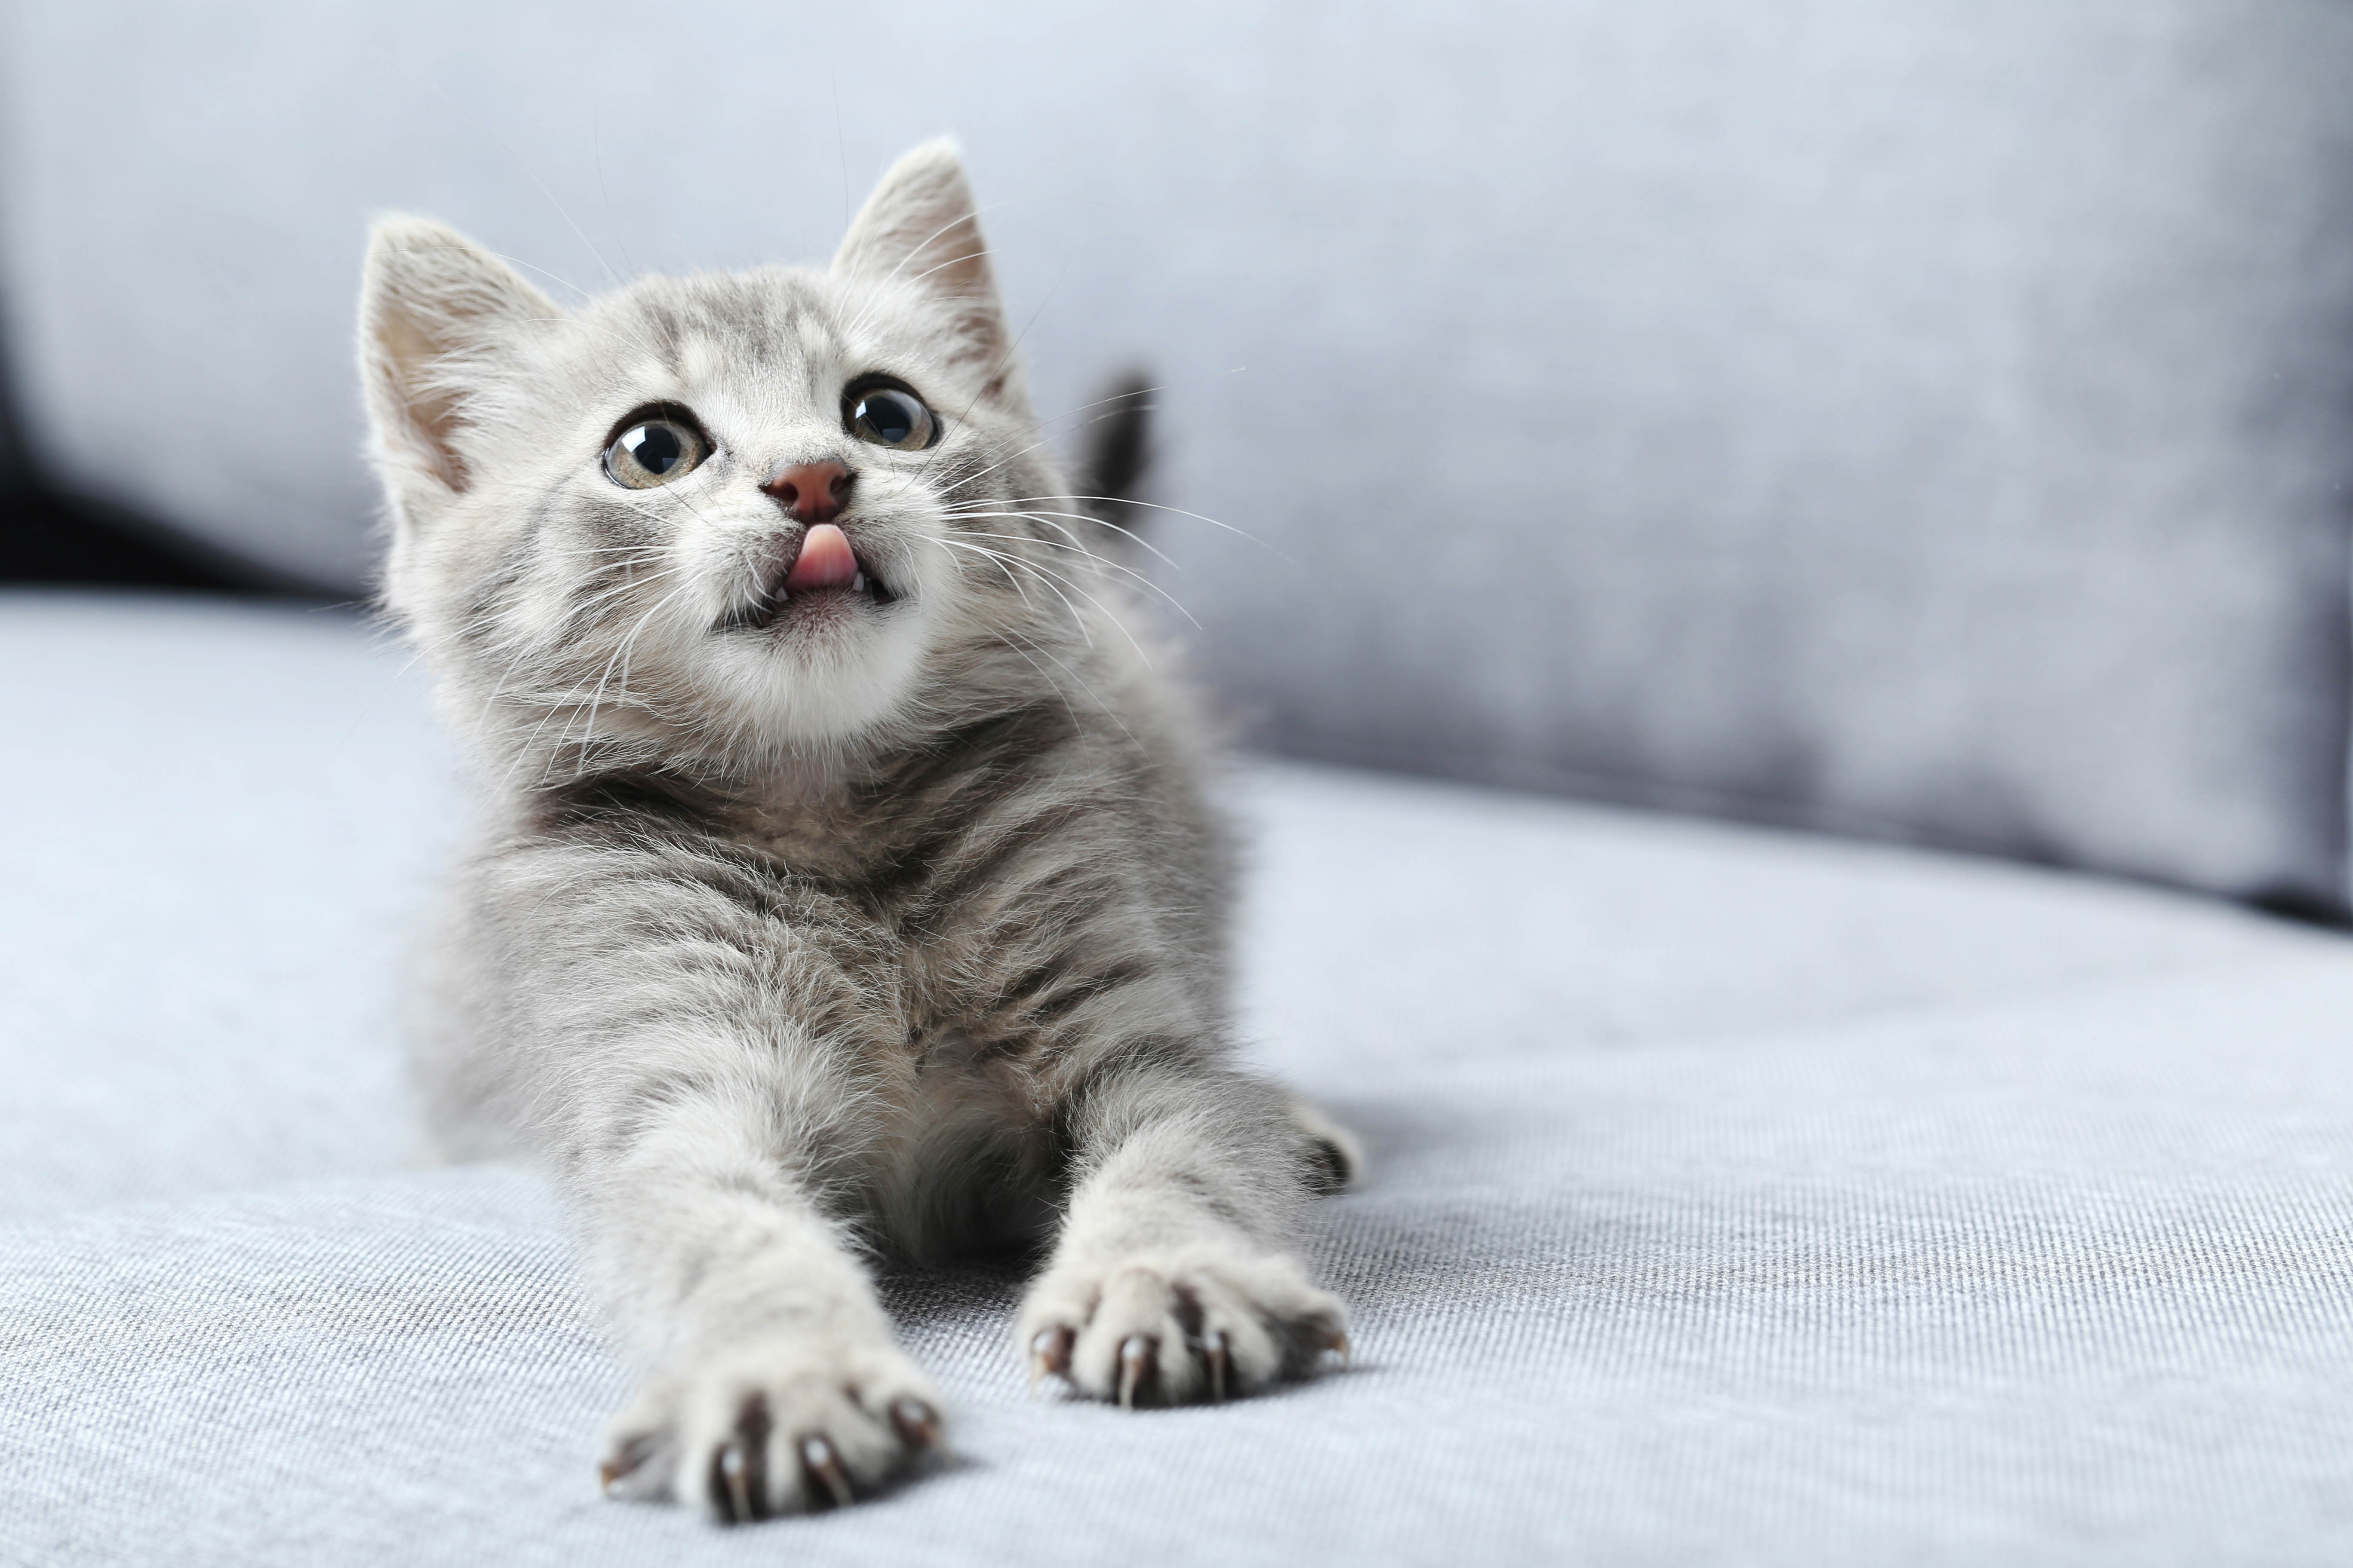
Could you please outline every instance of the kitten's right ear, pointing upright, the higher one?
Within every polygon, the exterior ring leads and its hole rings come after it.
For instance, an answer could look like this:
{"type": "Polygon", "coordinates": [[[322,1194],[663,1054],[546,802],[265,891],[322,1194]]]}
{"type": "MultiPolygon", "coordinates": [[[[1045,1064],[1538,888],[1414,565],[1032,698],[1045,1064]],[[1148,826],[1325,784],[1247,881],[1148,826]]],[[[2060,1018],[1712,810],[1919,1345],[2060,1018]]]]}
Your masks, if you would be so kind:
{"type": "Polygon", "coordinates": [[[845,277],[896,277],[958,306],[974,353],[1007,353],[1005,308],[981,240],[981,219],[955,141],[925,141],[889,167],[866,197],[833,270],[845,277]]]}

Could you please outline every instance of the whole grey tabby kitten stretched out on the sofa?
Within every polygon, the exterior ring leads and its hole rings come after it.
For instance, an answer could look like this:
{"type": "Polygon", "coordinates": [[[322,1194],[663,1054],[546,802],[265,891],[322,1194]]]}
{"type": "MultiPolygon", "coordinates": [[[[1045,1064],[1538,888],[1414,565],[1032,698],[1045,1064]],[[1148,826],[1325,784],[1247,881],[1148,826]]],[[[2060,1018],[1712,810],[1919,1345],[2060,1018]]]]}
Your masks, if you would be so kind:
{"type": "Polygon", "coordinates": [[[565,310],[369,242],[384,599],[487,783],[424,1077],[574,1204],[619,1493],[762,1519],[936,1448],[873,1251],[1049,1244],[1016,1354],[1094,1399],[1346,1345],[1297,1246],[1353,1143],[1228,1060],[1202,719],[1012,355],[946,141],[826,270],[565,310]]]}

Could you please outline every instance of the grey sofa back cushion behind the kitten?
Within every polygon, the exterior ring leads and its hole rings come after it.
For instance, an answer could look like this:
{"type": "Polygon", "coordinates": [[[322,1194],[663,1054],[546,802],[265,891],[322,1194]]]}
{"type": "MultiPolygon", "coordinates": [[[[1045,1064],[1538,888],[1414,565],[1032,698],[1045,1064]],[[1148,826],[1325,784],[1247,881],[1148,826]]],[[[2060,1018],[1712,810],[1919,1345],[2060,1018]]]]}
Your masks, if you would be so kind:
{"type": "MultiPolygon", "coordinates": [[[[824,256],[960,129],[1271,743],[2344,898],[2353,7],[19,0],[35,456],[365,574],[360,226],[824,256]]],[[[1054,435],[1068,430],[1068,421],[1054,435]]]]}

